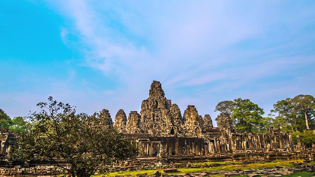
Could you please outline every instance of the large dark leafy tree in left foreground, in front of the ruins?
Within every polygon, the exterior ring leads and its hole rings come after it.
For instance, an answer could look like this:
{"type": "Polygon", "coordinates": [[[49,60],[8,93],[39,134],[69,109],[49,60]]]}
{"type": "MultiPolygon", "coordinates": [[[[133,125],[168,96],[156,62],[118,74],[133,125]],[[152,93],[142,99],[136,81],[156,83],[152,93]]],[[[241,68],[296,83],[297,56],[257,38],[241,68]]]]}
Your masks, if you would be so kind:
{"type": "Polygon", "coordinates": [[[48,100],[37,104],[41,111],[31,115],[33,126],[17,141],[13,159],[52,160],[60,167],[57,159],[64,159],[72,177],[89,177],[96,170],[108,172],[116,160],[135,156],[134,142],[101,121],[99,114],[76,114],[69,104],[48,100]]]}

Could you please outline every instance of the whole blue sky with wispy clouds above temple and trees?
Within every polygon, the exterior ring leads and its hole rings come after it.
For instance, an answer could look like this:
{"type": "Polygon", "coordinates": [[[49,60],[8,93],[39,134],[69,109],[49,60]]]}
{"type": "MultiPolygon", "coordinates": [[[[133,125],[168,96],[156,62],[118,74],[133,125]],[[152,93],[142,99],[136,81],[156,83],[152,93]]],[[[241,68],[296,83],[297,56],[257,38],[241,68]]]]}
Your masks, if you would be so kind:
{"type": "Polygon", "coordinates": [[[114,119],[141,110],[153,80],[182,114],[250,99],[270,113],[315,96],[314,0],[1,0],[0,109],[49,96],[114,119]]]}

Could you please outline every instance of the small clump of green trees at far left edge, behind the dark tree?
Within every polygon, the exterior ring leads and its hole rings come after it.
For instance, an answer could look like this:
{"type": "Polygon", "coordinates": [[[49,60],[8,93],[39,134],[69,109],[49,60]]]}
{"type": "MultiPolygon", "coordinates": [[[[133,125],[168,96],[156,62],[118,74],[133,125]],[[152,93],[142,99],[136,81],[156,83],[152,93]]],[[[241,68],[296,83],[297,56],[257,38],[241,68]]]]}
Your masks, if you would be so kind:
{"type": "Polygon", "coordinates": [[[11,119],[2,109],[0,109],[0,128],[8,128],[15,132],[26,132],[30,126],[26,117],[15,117],[11,119]]]}

